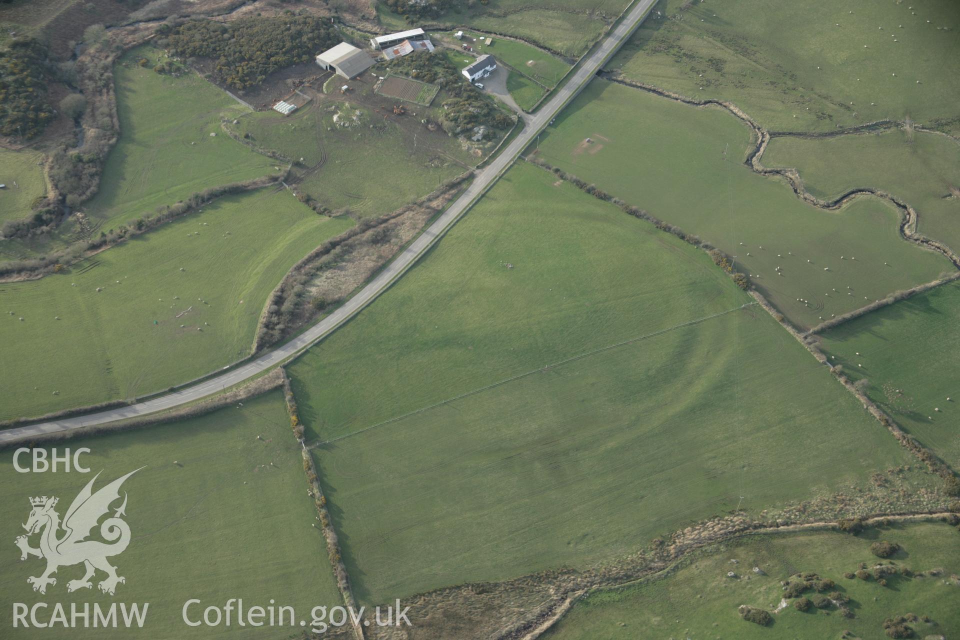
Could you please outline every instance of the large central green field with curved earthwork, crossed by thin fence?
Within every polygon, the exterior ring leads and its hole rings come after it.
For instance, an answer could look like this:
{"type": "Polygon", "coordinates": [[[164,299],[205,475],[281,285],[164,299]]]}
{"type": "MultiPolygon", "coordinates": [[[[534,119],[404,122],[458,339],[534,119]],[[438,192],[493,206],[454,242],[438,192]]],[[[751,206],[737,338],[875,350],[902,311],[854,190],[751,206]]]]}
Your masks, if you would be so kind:
{"type": "Polygon", "coordinates": [[[364,603],[610,560],[909,463],[706,253],[554,181],[511,169],[289,367],[364,603]]]}

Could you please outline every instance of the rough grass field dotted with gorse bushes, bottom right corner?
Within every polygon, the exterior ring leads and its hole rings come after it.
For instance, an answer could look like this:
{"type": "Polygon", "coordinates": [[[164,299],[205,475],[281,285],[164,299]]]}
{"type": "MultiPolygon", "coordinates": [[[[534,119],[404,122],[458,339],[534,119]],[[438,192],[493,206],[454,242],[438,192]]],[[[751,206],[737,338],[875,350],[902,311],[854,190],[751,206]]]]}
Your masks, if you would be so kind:
{"type": "MultiPolygon", "coordinates": [[[[619,638],[885,638],[883,621],[914,613],[931,622],[909,623],[915,638],[952,637],[960,629],[960,589],[949,576],[960,572],[960,537],[944,523],[894,525],[859,536],[835,531],[748,535],[714,545],[684,561],[675,573],[616,591],[596,592],[574,605],[544,640],[617,640],[619,638]],[[897,542],[891,559],[915,574],[940,569],[937,576],[844,578],[861,562],[880,560],[870,553],[876,540],[897,542]],[[733,564],[731,560],[737,560],[733,564]],[[758,566],[763,575],[755,575],[758,566]],[[734,571],[736,578],[728,578],[734,571]],[[767,627],[742,620],[740,604],[773,611],[782,598],[780,581],[813,572],[835,582],[850,598],[854,617],[836,607],[801,612],[794,600],[767,627]]],[[[807,592],[810,597],[811,592],[807,592]]]]}

